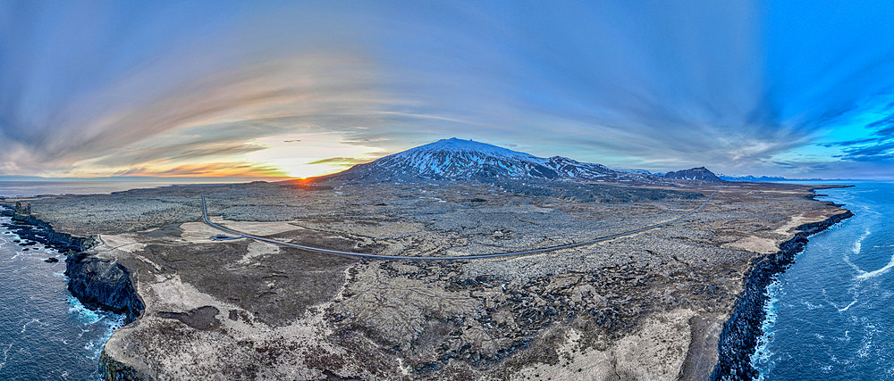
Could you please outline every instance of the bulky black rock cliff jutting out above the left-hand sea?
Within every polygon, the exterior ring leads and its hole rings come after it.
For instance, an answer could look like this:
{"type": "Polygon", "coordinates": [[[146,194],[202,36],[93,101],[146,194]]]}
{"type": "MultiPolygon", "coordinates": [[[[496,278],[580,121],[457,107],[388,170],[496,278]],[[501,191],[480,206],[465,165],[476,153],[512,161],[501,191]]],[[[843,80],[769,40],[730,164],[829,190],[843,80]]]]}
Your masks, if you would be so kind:
{"type": "Polygon", "coordinates": [[[72,253],[65,259],[68,289],[85,306],[123,313],[131,322],[143,311],[131,271],[117,261],[89,253],[72,253]]]}

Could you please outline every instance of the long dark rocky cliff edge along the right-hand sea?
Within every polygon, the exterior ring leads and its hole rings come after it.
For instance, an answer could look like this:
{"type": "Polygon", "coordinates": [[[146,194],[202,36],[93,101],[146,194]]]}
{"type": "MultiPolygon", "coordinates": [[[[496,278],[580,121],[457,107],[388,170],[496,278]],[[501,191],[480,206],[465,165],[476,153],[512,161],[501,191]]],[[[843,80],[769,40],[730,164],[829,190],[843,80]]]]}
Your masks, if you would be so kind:
{"type": "MultiPolygon", "coordinates": [[[[851,186],[823,188],[832,187],[851,186]]],[[[812,192],[814,194],[808,196],[811,199],[822,196],[816,194],[815,189],[812,192]]],[[[750,356],[755,351],[758,338],[763,335],[762,325],[766,319],[763,306],[770,297],[767,286],[772,284],[777,274],[785,272],[794,263],[797,254],[804,251],[808,237],[854,216],[852,211],[840,208],[842,205],[822,203],[839,207],[842,212],[832,214],[822,221],[799,225],[795,228],[795,236],[779,245],[779,252],[761,255],[751,262],[743,279],[745,289],[739,295],[730,318],[723,323],[718,343],[718,360],[711,373],[712,380],[751,380],[758,376],[757,370],[751,365],[750,356]]]]}

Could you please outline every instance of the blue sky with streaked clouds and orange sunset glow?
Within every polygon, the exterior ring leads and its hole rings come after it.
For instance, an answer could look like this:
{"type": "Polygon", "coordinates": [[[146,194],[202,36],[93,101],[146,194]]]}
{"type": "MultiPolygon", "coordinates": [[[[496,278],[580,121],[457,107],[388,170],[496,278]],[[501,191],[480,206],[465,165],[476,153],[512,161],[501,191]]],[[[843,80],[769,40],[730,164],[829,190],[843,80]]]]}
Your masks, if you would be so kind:
{"type": "Polygon", "coordinates": [[[4,1],[0,176],[304,178],[460,137],[890,179],[891,20],[885,1],[4,1]]]}

